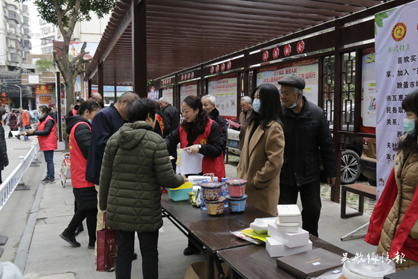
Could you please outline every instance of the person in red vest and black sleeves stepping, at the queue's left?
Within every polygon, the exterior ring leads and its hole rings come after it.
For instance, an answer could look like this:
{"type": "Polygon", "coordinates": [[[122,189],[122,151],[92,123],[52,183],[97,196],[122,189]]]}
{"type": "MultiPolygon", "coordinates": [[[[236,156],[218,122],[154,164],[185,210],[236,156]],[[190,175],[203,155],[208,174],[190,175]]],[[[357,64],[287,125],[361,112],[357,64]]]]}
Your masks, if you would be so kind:
{"type": "Polygon", "coordinates": [[[87,100],[81,105],[75,105],[78,113],[67,119],[65,131],[70,135],[71,183],[75,197],[75,214],[60,236],[73,247],[80,247],[75,236],[84,230],[81,225],[84,219],[86,219],[88,229],[88,249],[94,249],[96,240],[98,193],[94,184],[86,181],[86,165],[91,143],[91,123],[100,109],[100,105],[95,100],[87,100]]]}

